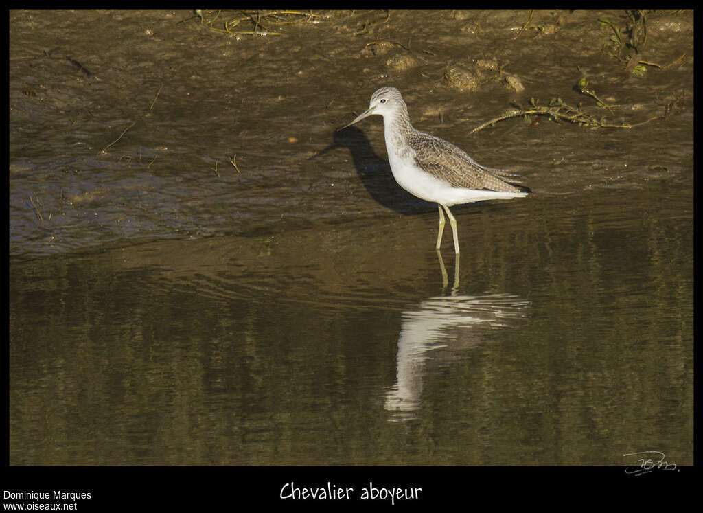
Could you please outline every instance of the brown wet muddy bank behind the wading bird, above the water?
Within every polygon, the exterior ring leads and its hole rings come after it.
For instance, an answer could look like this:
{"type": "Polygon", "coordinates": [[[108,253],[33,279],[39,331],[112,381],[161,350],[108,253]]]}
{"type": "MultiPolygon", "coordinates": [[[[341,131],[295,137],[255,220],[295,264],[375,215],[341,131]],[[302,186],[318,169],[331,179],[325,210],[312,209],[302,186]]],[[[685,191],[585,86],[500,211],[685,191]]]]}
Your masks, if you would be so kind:
{"type": "Polygon", "coordinates": [[[259,31],[247,35],[212,30],[246,18],[233,11],[212,27],[212,11],[205,24],[192,11],[11,11],[11,255],[426,210],[389,178],[379,120],[335,133],[386,84],[416,127],[540,194],[692,172],[690,11],[647,14],[641,76],[626,73],[625,11],[314,14],[230,25],[259,31]],[[584,77],[607,108],[577,90],[584,77]],[[660,119],[592,131],[532,116],[467,135],[512,103],[557,98],[594,119],[660,119]]]}

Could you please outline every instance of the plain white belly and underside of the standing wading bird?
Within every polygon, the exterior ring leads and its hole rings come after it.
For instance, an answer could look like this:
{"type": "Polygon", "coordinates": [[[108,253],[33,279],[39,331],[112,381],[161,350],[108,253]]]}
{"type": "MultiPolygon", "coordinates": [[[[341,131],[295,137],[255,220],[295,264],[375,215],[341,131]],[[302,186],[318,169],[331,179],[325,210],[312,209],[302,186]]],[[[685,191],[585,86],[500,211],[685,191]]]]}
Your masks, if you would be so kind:
{"type": "Polygon", "coordinates": [[[394,151],[388,151],[388,163],[391,165],[396,182],[413,196],[425,201],[442,205],[460,205],[489,199],[510,199],[526,196],[521,192],[496,192],[477,189],[453,187],[448,182],[423,171],[415,164],[413,157],[404,158],[394,151]]]}

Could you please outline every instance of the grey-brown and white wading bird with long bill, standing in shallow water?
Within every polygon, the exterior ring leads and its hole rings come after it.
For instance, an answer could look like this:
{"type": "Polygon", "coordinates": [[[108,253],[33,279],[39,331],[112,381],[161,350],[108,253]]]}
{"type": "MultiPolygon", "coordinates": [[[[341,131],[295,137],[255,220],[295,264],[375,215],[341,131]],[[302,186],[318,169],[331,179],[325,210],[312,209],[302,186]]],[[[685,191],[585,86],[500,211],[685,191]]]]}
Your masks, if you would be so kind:
{"type": "Polygon", "coordinates": [[[395,87],[381,87],[371,95],[368,109],[356,117],[354,123],[370,115],[383,116],[388,163],[396,182],[413,196],[437,203],[439,208],[439,234],[437,250],[444,233],[446,210],[454,236],[454,250],[459,254],[456,219],[449,207],[474,201],[522,198],[530,192],[505,180],[517,175],[485,167],[453,144],[425,134],[410,124],[408,106],[395,87]]]}

